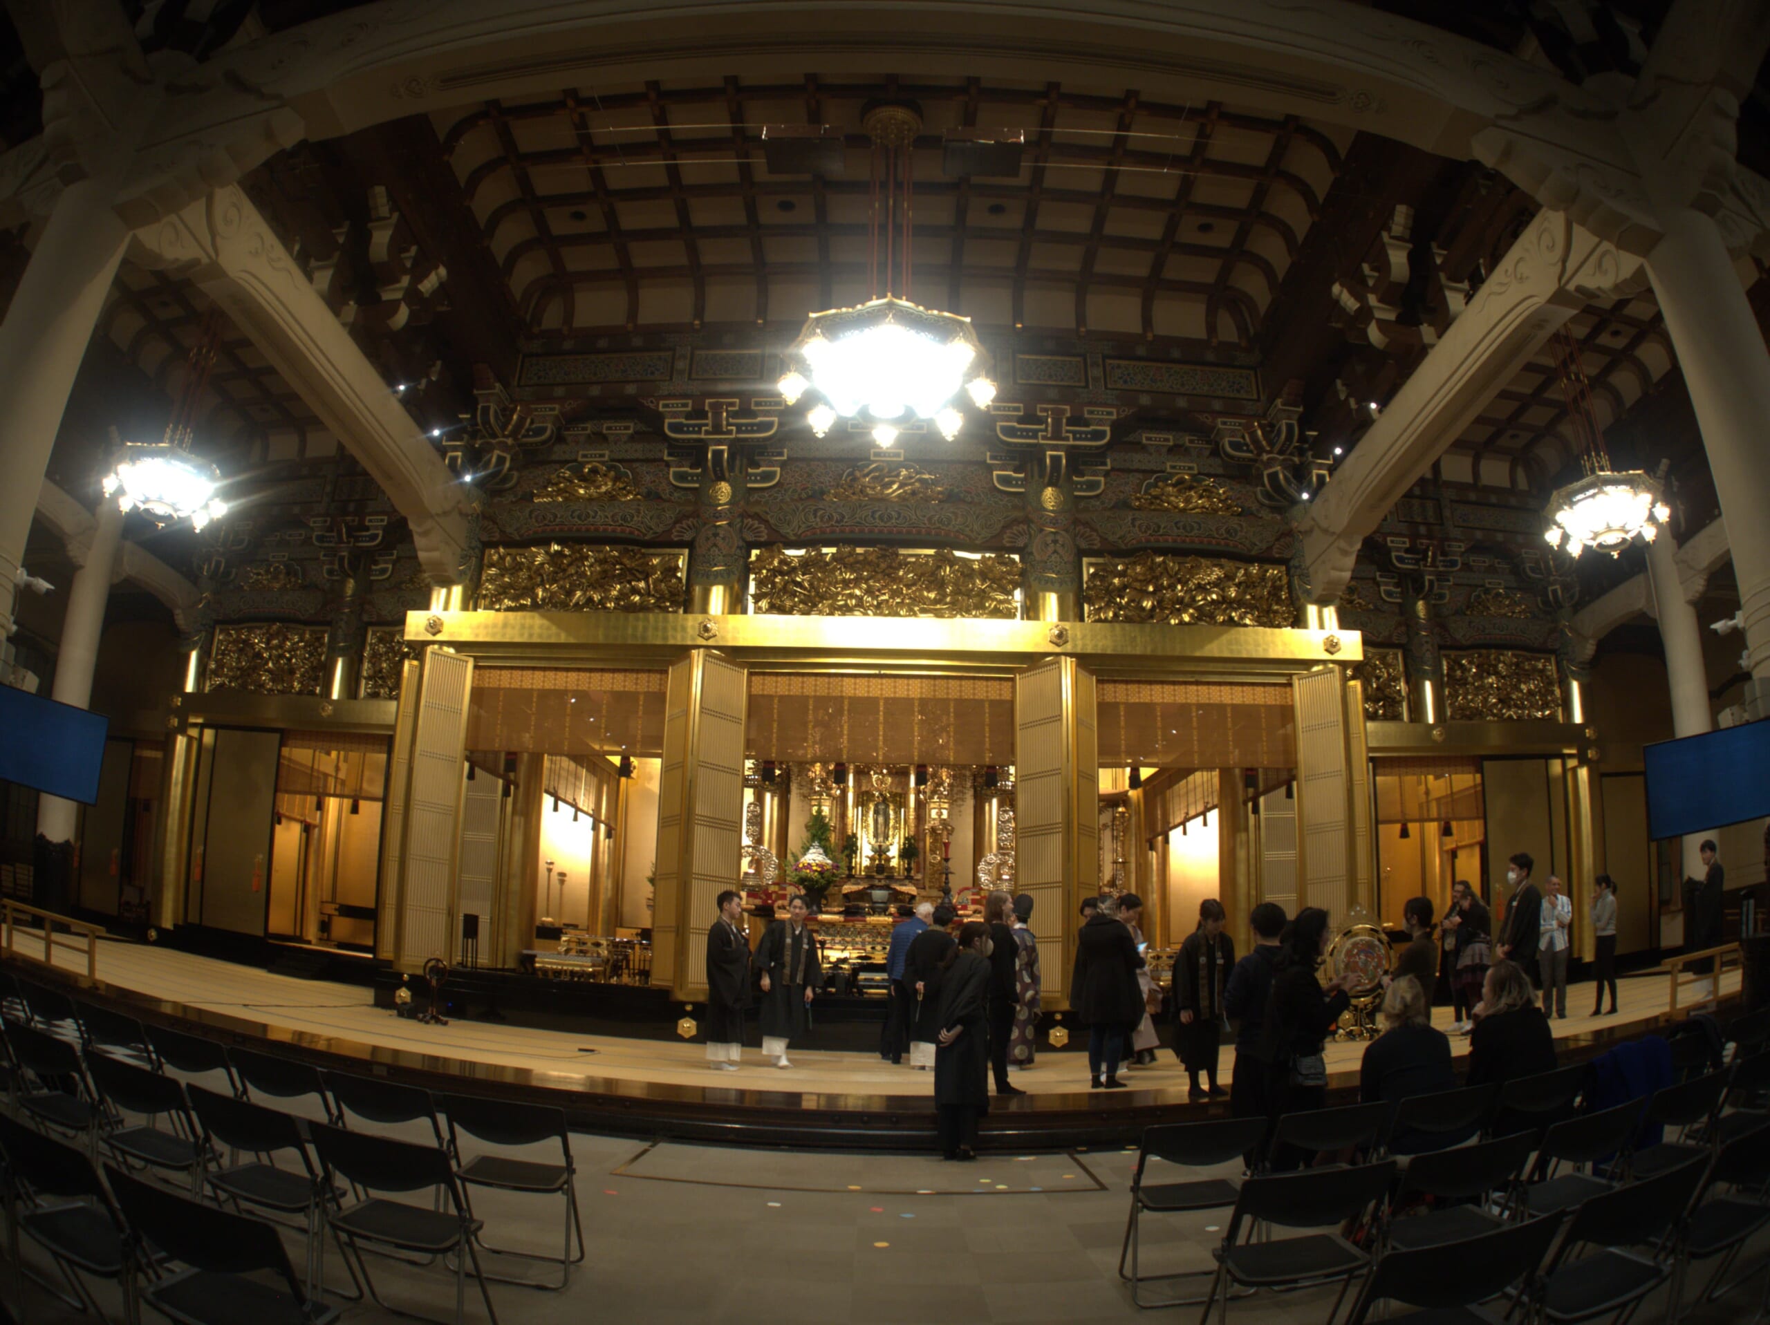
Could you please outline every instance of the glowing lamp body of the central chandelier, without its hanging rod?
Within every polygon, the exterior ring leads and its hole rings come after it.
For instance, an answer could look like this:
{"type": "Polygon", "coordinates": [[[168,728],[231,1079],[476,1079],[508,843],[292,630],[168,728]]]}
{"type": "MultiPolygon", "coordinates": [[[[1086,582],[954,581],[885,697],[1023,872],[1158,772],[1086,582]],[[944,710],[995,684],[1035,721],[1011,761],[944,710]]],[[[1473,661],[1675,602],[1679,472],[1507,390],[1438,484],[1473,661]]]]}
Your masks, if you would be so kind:
{"type": "Polygon", "coordinates": [[[885,295],[812,313],[788,350],[791,368],[779,386],[789,405],[805,391],[821,396],[805,416],[818,437],[837,419],[864,414],[878,446],[890,446],[915,419],[933,423],[950,442],[965,426],[956,405],[961,391],[977,409],[995,400],[981,359],[970,318],[885,295]]]}

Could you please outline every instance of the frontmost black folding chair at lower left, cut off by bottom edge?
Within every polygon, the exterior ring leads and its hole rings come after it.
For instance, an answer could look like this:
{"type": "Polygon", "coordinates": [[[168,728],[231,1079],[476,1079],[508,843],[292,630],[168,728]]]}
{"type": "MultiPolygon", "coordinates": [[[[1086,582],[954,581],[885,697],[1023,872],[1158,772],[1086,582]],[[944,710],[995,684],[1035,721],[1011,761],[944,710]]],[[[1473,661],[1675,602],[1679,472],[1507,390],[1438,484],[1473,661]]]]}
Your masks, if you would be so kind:
{"type": "Polygon", "coordinates": [[[156,1279],[142,1297],[179,1325],[329,1325],[340,1307],[308,1298],[296,1279],[283,1238],[248,1219],[177,1196],[106,1166],[104,1176],[136,1238],[150,1238],[168,1260],[188,1268],[156,1279]],[[246,1275],[274,1277],[273,1288],[246,1275]]]}

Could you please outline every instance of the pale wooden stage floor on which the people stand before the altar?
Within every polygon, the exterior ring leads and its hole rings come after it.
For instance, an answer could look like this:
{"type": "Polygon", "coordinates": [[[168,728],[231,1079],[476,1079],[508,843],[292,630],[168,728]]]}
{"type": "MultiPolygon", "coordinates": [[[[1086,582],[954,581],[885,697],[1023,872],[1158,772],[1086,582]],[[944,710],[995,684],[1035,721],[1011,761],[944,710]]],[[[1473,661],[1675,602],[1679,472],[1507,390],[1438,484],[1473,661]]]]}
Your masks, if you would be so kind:
{"type": "MultiPolygon", "coordinates": [[[[80,985],[71,992],[143,1021],[234,1044],[271,1040],[320,1067],[384,1072],[432,1090],[547,1100],[588,1130],[866,1148],[927,1145],[933,1132],[933,1074],[894,1067],[873,1053],[795,1051],[793,1067],[777,1070],[747,1049],[738,1072],[713,1072],[699,1042],[462,1019],[427,1026],[373,1007],[363,985],[301,980],[124,941],[101,941],[97,984],[90,987],[83,954],[58,952],[55,971],[28,961],[11,966],[25,978],[80,985]]],[[[1722,1014],[1731,1015],[1740,973],[1720,978],[1722,1014]]],[[[1591,992],[1589,984],[1574,985],[1572,1015],[1554,1022],[1563,1061],[1673,1021],[1666,973],[1621,980],[1614,1017],[1584,1015],[1591,992]]],[[[1689,992],[1680,1001],[1687,1005],[1689,992]]],[[[1448,1030],[1450,1012],[1435,1010],[1434,1021],[1448,1030]]],[[[1080,1038],[1066,1051],[1041,1049],[1034,1067],[1014,1072],[1014,1084],[1028,1093],[991,1107],[986,1143],[1094,1145],[1135,1137],[1143,1125],[1174,1122],[1181,1111],[1209,1116],[1209,1106],[1188,1104],[1186,1074],[1168,1049],[1156,1065],[1127,1074],[1133,1090],[1090,1091],[1080,1038]]],[[[1457,1058],[1467,1045],[1467,1038],[1451,1037],[1457,1058]]],[[[1329,1044],[1331,1090],[1356,1090],[1363,1051],[1363,1042],[1329,1044]]],[[[1223,1084],[1232,1061],[1234,1049],[1225,1045],[1223,1084]]]]}

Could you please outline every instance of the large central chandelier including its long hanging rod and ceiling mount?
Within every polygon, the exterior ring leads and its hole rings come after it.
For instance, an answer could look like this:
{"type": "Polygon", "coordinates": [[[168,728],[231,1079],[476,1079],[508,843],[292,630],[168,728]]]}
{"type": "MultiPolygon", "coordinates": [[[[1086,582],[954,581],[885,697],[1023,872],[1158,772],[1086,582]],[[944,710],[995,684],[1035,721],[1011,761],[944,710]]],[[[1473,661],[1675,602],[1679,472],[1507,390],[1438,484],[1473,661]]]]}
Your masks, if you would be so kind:
{"type": "Polygon", "coordinates": [[[908,299],[912,150],[922,117],[912,106],[885,104],[869,110],[862,126],[873,138],[871,297],[855,308],[812,313],[786,352],[779,389],[788,405],[807,391],[820,396],[805,416],[818,437],[837,419],[866,416],[876,446],[890,446],[917,421],[950,442],[965,426],[961,394],[988,409],[995,384],[982,375],[982,347],[968,317],[908,299]]]}

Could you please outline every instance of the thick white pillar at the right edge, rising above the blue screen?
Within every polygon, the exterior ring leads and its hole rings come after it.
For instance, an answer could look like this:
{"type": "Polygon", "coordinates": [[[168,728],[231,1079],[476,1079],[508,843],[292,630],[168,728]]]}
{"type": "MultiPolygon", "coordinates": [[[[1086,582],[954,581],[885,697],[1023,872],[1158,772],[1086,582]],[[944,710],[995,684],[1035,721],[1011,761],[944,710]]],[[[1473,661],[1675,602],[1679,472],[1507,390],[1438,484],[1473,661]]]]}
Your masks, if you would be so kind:
{"type": "MultiPolygon", "coordinates": [[[[1646,258],[1653,292],[1690,387],[1720,518],[1740,582],[1752,716],[1770,709],[1770,348],[1715,221],[1696,211],[1667,218],[1646,258]]],[[[1667,662],[1671,647],[1667,644],[1667,662]]],[[[1676,692],[1674,692],[1676,693],[1676,692]]],[[[1706,704],[1706,699],[1705,699],[1706,704]]]]}

